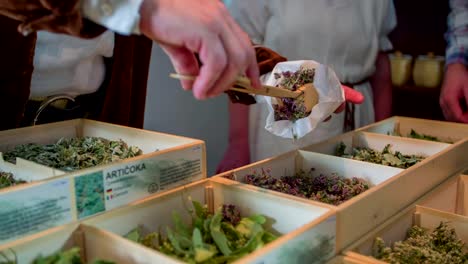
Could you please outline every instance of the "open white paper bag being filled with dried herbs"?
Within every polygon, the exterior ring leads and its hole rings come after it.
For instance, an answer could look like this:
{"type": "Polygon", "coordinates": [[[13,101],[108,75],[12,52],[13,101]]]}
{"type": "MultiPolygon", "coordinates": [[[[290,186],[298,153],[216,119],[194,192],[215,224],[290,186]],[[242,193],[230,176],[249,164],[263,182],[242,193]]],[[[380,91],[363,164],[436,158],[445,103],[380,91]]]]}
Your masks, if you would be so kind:
{"type": "Polygon", "coordinates": [[[280,80],[275,78],[275,73],[296,72],[301,67],[315,69],[313,84],[319,94],[319,101],[312,108],[309,116],[294,122],[289,120],[275,121],[273,105],[277,104],[277,99],[269,96],[257,96],[257,100],[266,100],[268,102],[266,105],[268,105],[269,114],[265,129],[279,137],[297,139],[305,136],[345,101],[343,89],[335,72],[329,67],[312,60],[280,62],[276,64],[271,73],[263,76],[263,82],[266,85],[276,86],[280,80]]]}

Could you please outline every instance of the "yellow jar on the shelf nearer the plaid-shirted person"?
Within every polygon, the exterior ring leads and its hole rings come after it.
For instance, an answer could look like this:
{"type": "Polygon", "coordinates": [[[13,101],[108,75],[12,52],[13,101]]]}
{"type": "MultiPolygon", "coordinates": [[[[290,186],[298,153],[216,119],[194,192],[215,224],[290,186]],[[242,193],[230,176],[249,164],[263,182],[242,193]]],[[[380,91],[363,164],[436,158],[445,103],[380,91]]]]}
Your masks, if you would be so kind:
{"type": "Polygon", "coordinates": [[[444,76],[444,62],[444,57],[434,56],[433,53],[418,56],[413,69],[414,84],[427,88],[439,87],[444,76]]]}

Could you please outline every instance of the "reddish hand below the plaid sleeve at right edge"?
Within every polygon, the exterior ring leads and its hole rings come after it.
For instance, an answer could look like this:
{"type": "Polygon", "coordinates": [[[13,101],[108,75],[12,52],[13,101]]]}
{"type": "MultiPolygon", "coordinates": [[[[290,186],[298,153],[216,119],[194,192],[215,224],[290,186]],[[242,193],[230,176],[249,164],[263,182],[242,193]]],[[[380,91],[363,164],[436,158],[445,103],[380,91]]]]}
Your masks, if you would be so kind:
{"type": "Polygon", "coordinates": [[[468,70],[462,63],[447,67],[439,103],[447,120],[468,123],[468,70]]]}

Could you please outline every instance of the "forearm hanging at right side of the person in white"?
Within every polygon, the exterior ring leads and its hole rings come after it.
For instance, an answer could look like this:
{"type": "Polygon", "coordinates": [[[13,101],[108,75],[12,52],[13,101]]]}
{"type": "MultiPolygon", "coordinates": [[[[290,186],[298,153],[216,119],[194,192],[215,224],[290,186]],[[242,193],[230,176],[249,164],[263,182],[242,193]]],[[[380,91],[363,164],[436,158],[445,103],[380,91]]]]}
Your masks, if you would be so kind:
{"type": "Polygon", "coordinates": [[[380,52],[375,66],[370,84],[374,94],[375,120],[380,121],[392,115],[392,80],[388,55],[380,52]]]}

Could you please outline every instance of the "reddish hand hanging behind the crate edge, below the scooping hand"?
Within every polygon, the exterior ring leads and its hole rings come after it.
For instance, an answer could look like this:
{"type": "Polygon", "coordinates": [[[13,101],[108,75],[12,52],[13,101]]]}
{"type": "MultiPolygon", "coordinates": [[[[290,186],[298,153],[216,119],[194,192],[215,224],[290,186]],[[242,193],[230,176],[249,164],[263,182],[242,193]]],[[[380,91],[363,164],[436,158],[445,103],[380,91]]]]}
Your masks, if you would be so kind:
{"type": "Polygon", "coordinates": [[[229,142],[223,159],[216,169],[216,174],[245,166],[250,163],[249,143],[229,142]]]}

